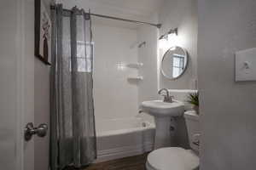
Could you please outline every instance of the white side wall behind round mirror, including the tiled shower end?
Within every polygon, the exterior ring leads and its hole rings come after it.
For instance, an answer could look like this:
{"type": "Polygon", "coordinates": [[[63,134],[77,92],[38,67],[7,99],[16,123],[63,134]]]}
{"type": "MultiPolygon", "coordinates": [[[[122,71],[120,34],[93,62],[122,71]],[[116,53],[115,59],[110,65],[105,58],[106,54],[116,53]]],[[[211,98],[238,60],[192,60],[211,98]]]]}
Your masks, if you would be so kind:
{"type": "Polygon", "coordinates": [[[153,23],[160,23],[158,30],[150,26],[140,26],[139,42],[146,41],[145,48],[139,49],[138,60],[144,63],[139,73],[144,80],[139,84],[139,102],[146,99],[158,99],[159,88],[195,89],[197,79],[197,0],[166,0],[158,14],[152,14],[153,23]],[[160,73],[160,61],[163,51],[157,48],[160,35],[170,29],[178,28],[176,45],[189,53],[189,66],[182,77],[169,80],[160,73]]]}

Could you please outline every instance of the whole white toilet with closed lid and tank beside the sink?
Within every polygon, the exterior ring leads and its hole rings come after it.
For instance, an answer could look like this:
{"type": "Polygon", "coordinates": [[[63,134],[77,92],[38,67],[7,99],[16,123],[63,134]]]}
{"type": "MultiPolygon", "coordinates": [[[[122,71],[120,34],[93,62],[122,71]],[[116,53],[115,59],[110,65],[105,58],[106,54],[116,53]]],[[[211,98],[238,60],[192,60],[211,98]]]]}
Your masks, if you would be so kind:
{"type": "Polygon", "coordinates": [[[198,170],[199,169],[199,116],[195,111],[184,113],[192,150],[179,147],[166,147],[148,154],[147,170],[198,170]]]}

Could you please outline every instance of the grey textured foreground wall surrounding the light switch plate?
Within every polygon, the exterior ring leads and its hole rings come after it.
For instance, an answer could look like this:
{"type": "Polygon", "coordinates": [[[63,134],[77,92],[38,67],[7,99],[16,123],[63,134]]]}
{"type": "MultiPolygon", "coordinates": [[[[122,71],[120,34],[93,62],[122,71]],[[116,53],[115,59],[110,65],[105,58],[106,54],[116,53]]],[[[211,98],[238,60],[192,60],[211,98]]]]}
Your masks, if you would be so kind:
{"type": "Polygon", "coordinates": [[[199,0],[202,170],[255,169],[256,82],[235,82],[235,53],[256,47],[255,0],[199,0]]]}

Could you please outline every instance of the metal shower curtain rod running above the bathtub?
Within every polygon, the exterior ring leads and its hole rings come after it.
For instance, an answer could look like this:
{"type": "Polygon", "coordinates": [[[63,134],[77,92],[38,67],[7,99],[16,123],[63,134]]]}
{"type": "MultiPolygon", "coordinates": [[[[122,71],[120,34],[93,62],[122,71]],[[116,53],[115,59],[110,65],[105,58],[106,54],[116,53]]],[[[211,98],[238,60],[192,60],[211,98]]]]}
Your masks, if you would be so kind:
{"type": "MultiPolygon", "coordinates": [[[[55,9],[55,6],[51,5],[50,6],[51,9],[55,9]]],[[[66,9],[68,10],[68,9],[66,9]]],[[[70,11],[70,10],[68,10],[70,11]]],[[[103,14],[93,14],[90,13],[90,15],[96,16],[96,17],[101,17],[101,18],[106,18],[106,19],[110,19],[110,20],[122,20],[122,21],[126,21],[126,22],[132,22],[132,23],[136,23],[136,24],[143,24],[143,25],[148,25],[148,26],[155,26],[157,28],[160,28],[162,25],[161,24],[153,24],[153,23],[149,23],[149,22],[143,22],[143,21],[138,21],[138,20],[128,20],[128,19],[123,19],[123,18],[119,18],[119,17],[113,17],[113,16],[108,16],[108,15],[103,15],[103,14]]]]}

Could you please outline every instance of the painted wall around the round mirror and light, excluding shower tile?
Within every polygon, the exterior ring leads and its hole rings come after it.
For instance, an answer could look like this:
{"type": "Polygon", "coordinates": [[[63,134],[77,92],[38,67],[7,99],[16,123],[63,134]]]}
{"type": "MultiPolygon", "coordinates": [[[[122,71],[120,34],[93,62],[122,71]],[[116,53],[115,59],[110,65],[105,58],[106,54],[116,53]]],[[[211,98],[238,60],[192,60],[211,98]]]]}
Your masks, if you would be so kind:
{"type": "MultiPolygon", "coordinates": [[[[189,53],[189,66],[182,77],[169,80],[160,74],[160,88],[195,89],[197,79],[197,0],[166,0],[160,8],[160,35],[178,28],[177,46],[189,53]]],[[[171,47],[170,47],[171,48],[171,47]]],[[[165,52],[160,51],[160,60],[165,52]]]]}

